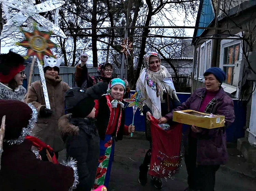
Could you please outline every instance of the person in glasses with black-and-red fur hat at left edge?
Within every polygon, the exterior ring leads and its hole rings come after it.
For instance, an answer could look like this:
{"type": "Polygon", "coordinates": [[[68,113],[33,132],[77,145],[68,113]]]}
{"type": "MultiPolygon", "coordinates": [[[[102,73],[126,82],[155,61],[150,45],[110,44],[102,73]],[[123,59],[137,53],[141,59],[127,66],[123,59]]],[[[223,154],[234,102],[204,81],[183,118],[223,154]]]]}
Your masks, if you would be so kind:
{"type": "Polygon", "coordinates": [[[24,69],[24,58],[21,55],[12,51],[0,54],[0,99],[24,101],[24,69]]]}

